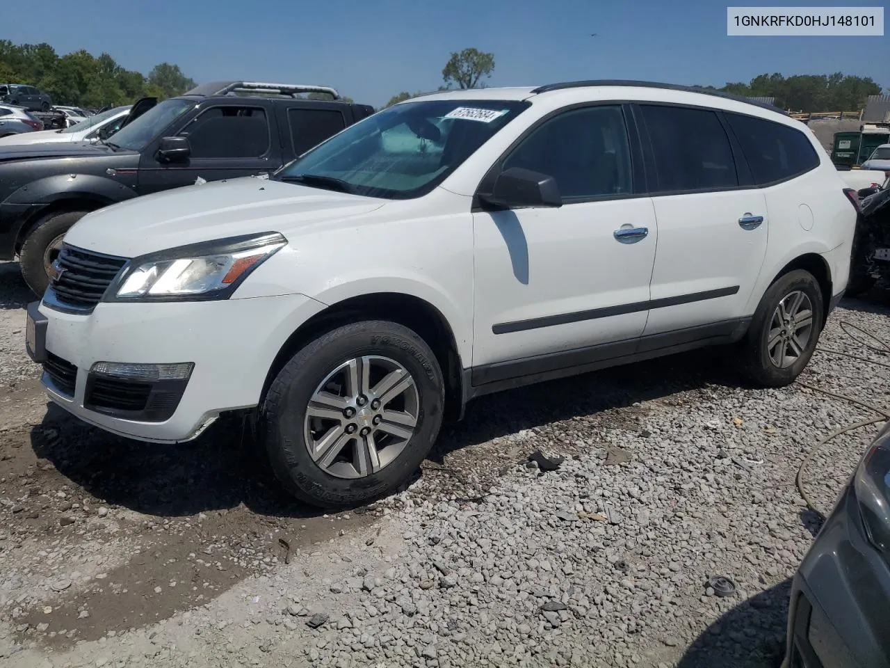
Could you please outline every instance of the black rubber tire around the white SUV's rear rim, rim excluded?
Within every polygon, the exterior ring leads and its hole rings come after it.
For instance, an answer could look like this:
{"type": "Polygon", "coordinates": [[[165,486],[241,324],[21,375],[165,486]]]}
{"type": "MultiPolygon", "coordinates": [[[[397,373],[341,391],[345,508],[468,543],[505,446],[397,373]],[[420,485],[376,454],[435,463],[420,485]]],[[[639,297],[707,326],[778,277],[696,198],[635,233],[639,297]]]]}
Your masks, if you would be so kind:
{"type": "Polygon", "coordinates": [[[824,313],[825,305],[819,281],[816,281],[812,273],[795,269],[774,281],[757,305],[748,334],[742,341],[742,365],[748,378],[764,387],[783,387],[793,383],[813,356],[813,351],[819,342],[824,313]],[[802,292],[810,300],[812,330],[801,354],[798,354],[789,366],[781,368],[770,356],[768,340],[773,315],[781,300],[794,292],[802,292]]]}

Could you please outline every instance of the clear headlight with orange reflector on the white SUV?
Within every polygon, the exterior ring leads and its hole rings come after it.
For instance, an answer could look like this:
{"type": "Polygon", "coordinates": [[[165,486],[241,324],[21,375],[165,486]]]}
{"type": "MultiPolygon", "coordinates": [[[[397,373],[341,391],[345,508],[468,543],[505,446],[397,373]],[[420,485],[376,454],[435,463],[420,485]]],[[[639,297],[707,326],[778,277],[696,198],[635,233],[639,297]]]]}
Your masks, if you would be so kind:
{"type": "Polygon", "coordinates": [[[278,232],[171,248],[136,257],[107,301],[225,299],[287,240],[278,232]]]}

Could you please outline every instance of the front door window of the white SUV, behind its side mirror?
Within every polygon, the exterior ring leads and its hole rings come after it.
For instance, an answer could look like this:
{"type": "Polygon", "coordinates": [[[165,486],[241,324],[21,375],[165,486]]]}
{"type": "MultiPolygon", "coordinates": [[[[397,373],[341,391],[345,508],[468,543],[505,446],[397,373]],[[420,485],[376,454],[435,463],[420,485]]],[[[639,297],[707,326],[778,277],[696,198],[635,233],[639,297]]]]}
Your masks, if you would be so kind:
{"type": "Polygon", "coordinates": [[[619,106],[566,111],[526,137],[505,160],[509,167],[553,176],[563,200],[630,194],[624,114],[619,106]]]}

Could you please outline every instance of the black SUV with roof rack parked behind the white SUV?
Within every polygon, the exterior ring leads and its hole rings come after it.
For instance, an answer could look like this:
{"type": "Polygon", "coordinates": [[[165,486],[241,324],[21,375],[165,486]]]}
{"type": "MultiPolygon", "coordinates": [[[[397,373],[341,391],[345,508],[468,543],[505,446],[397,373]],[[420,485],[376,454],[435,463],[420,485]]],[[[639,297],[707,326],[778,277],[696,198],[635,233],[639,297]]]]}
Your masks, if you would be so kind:
{"type": "Polygon", "coordinates": [[[0,149],[0,259],[18,256],[28,286],[43,294],[65,233],[88,212],[182,185],[271,173],[372,113],[327,86],[217,82],[164,102],[143,98],[100,142],[0,149]]]}

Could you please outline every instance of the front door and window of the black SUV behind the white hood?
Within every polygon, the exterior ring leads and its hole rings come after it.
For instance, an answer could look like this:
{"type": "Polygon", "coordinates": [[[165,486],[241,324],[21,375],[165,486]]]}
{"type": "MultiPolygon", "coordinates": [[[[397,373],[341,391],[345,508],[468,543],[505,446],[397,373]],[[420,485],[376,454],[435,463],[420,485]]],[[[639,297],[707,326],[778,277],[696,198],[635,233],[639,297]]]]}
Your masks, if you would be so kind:
{"type": "Polygon", "coordinates": [[[160,138],[143,151],[139,171],[142,194],[239,176],[268,174],[281,165],[278,128],[271,105],[250,98],[213,102],[167,135],[187,137],[189,159],[158,160],[160,138]]]}

